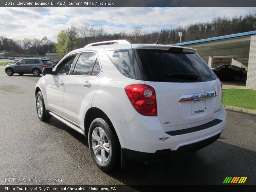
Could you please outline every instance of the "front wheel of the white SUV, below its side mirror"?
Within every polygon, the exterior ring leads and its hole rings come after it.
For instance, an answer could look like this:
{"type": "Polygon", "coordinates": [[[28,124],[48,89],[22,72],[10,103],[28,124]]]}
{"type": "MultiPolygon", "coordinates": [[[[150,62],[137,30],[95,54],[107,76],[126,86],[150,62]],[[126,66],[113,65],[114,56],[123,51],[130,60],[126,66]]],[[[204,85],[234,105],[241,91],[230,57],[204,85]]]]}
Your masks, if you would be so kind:
{"type": "Polygon", "coordinates": [[[36,94],[36,113],[37,113],[37,116],[38,118],[41,120],[41,121],[48,121],[51,119],[51,115],[48,114],[45,110],[45,105],[44,105],[44,98],[43,98],[43,94],[39,91],[37,94],[36,94]],[[40,99],[38,99],[40,97],[40,99]],[[40,102],[40,100],[42,102],[40,102]],[[39,104],[40,103],[40,112],[39,112],[39,104]],[[41,108],[42,107],[42,108],[41,108]]]}

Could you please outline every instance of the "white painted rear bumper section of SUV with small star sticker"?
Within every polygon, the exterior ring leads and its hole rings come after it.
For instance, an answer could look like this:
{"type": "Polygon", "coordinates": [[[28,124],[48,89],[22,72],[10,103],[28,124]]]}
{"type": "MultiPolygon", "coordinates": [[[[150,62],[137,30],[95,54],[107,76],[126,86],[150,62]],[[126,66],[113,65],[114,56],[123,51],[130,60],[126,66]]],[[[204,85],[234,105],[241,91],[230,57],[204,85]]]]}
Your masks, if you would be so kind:
{"type": "Polygon", "coordinates": [[[172,132],[164,132],[157,117],[137,115],[130,122],[112,123],[117,130],[120,145],[125,151],[155,154],[160,150],[180,150],[182,146],[200,143],[221,134],[226,124],[226,111],[222,105],[217,119],[172,132]]]}

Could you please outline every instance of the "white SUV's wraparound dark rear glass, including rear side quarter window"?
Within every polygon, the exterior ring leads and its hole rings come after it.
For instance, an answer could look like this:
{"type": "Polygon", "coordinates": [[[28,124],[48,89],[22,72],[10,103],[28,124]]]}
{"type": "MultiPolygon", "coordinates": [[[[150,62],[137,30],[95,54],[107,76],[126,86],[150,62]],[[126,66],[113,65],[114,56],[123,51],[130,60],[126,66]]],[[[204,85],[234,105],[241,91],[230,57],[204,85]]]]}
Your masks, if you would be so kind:
{"type": "Polygon", "coordinates": [[[217,79],[196,53],[129,49],[111,51],[109,57],[124,76],[134,79],[141,80],[138,77],[142,76],[145,81],[180,83],[217,79]]]}

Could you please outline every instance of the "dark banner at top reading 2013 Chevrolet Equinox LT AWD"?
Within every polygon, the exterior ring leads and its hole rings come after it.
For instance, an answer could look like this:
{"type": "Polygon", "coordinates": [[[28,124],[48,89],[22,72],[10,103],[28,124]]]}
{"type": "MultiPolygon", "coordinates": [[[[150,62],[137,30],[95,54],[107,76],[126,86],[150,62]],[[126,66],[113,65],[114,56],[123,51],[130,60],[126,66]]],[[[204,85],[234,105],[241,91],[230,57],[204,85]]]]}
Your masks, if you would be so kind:
{"type": "Polygon", "coordinates": [[[1,0],[0,7],[256,7],[255,0],[1,0]]]}

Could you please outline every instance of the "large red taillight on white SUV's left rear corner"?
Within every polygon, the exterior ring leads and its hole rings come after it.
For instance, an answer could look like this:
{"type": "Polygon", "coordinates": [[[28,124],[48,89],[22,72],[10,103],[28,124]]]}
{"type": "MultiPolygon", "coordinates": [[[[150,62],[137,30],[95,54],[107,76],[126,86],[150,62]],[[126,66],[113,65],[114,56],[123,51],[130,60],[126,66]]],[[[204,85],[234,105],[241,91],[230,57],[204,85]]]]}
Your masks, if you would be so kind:
{"type": "Polygon", "coordinates": [[[144,116],[157,116],[156,92],[153,87],[145,84],[132,84],[124,89],[138,113],[144,116]]]}

